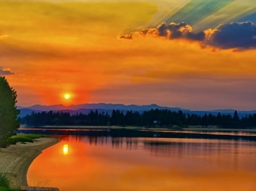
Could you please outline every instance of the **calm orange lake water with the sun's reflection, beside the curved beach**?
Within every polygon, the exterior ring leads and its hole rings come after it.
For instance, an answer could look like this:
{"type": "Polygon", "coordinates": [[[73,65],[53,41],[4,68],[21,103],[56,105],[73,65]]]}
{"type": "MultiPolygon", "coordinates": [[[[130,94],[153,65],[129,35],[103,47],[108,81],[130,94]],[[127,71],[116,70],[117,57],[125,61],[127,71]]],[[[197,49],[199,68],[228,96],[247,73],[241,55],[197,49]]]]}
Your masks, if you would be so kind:
{"type": "Polygon", "coordinates": [[[62,137],[30,165],[30,186],[69,190],[256,190],[256,142],[62,137]]]}

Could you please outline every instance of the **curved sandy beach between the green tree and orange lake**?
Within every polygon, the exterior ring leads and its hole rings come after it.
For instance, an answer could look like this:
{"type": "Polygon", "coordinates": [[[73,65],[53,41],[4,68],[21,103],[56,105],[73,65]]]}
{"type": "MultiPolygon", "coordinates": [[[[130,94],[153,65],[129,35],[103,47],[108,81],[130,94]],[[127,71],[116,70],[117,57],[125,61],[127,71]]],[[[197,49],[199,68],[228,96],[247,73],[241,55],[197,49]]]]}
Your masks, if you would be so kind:
{"type": "Polygon", "coordinates": [[[0,172],[6,172],[11,188],[27,185],[27,171],[44,149],[59,142],[57,138],[35,139],[34,143],[16,143],[0,148],[0,172]]]}

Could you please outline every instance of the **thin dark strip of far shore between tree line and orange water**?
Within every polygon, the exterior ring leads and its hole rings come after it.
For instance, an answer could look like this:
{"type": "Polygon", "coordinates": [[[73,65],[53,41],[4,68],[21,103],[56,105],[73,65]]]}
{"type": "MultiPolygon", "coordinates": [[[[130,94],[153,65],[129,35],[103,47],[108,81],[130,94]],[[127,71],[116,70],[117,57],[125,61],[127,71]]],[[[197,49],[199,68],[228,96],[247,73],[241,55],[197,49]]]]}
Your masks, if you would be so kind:
{"type": "Polygon", "coordinates": [[[256,130],[243,129],[164,129],[139,128],[134,126],[44,126],[40,128],[22,128],[17,133],[47,134],[47,135],[73,135],[92,137],[158,137],[158,138],[192,138],[192,139],[234,139],[256,141],[256,130]]]}

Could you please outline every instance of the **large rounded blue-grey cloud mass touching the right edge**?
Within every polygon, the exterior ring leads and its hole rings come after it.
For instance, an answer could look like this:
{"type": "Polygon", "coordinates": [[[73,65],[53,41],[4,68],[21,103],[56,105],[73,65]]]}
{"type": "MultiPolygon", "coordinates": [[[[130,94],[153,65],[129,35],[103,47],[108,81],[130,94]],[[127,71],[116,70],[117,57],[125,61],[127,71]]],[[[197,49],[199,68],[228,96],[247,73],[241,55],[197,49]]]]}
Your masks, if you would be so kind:
{"type": "Polygon", "coordinates": [[[213,29],[207,43],[221,49],[256,48],[256,26],[251,22],[221,24],[213,29]]]}

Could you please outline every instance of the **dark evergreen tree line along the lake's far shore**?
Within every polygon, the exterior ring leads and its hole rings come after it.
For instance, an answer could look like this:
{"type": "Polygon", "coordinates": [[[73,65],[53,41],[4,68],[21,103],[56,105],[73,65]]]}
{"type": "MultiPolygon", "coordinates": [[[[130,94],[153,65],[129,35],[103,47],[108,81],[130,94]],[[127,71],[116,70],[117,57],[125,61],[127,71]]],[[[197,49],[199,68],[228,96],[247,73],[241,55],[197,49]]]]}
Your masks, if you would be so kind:
{"type": "Polygon", "coordinates": [[[114,109],[111,114],[107,112],[90,111],[88,114],[68,112],[32,112],[21,119],[27,126],[44,125],[118,125],[172,128],[174,125],[185,128],[188,125],[207,127],[216,125],[220,128],[251,128],[256,126],[256,114],[239,117],[237,111],[231,114],[189,114],[182,111],[168,109],[151,109],[139,113],[138,111],[119,111],[114,109]]]}

